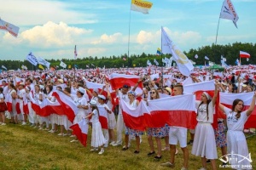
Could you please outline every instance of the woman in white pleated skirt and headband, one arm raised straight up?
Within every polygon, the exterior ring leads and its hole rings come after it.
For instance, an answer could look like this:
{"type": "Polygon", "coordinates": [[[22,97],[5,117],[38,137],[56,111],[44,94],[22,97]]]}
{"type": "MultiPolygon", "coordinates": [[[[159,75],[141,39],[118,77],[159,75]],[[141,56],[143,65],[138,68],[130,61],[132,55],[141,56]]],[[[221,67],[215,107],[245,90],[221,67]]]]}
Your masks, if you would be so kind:
{"type": "Polygon", "coordinates": [[[212,127],[215,101],[218,88],[215,84],[214,96],[211,98],[207,92],[201,94],[201,101],[196,102],[197,125],[195,127],[195,137],[191,153],[201,156],[201,170],[207,169],[207,159],[211,161],[212,169],[217,169],[215,159],[218,158],[215,142],[215,133],[212,127]]]}

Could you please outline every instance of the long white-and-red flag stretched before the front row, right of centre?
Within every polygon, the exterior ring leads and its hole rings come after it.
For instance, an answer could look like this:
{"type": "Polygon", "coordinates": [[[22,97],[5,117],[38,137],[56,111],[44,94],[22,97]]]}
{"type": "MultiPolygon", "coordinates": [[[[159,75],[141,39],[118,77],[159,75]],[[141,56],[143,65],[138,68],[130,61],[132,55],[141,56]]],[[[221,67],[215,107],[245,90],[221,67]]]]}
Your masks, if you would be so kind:
{"type": "Polygon", "coordinates": [[[145,130],[146,127],[169,126],[194,129],[197,123],[195,114],[195,96],[183,94],[172,98],[143,101],[136,109],[120,101],[125,126],[136,130],[145,130]]]}

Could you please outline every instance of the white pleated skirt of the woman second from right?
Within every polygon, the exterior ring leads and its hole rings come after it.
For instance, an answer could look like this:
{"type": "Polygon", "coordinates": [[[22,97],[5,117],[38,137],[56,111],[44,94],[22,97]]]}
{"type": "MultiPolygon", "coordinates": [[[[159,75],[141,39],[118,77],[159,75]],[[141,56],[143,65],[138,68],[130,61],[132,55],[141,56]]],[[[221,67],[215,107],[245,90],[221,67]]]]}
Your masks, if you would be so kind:
{"type": "Polygon", "coordinates": [[[191,153],[195,156],[206,156],[207,159],[218,158],[215,134],[211,123],[197,123],[191,153]]]}

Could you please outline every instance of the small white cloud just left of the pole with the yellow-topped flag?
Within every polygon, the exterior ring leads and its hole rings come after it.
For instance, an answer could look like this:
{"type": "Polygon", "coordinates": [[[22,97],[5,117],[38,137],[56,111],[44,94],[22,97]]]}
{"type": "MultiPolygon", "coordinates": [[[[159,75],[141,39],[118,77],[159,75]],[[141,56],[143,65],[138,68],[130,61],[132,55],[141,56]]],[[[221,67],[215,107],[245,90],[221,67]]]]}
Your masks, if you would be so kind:
{"type": "Polygon", "coordinates": [[[112,44],[112,43],[116,43],[116,42],[121,42],[120,40],[122,40],[122,34],[117,32],[114,33],[113,35],[107,35],[107,34],[103,34],[99,40],[93,41],[91,42],[92,44],[100,44],[100,43],[108,43],[108,44],[112,44]]]}

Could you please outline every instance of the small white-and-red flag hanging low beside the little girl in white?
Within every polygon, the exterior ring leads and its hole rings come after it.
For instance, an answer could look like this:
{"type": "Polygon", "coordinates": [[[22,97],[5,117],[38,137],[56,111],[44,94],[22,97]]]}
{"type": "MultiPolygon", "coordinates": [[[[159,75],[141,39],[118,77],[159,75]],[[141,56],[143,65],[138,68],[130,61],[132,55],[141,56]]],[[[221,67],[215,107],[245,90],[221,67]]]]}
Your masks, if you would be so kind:
{"type": "Polygon", "coordinates": [[[79,123],[76,123],[70,127],[73,129],[73,134],[76,135],[76,137],[79,139],[81,144],[84,145],[84,147],[87,144],[87,133],[88,133],[88,124],[85,119],[82,119],[79,123]]]}

